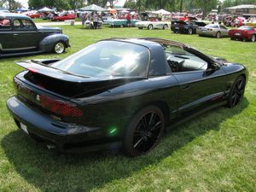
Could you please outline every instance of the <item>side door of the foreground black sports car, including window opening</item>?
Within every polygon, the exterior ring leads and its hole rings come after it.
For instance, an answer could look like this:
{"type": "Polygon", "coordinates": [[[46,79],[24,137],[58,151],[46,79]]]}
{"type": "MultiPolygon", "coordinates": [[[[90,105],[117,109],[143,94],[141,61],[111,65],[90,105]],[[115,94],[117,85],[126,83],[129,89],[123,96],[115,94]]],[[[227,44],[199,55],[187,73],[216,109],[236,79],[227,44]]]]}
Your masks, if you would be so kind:
{"type": "Polygon", "coordinates": [[[206,107],[223,98],[226,78],[221,67],[210,67],[207,61],[180,48],[172,48],[169,59],[176,64],[172,66],[172,74],[179,84],[177,110],[180,113],[206,107]]]}

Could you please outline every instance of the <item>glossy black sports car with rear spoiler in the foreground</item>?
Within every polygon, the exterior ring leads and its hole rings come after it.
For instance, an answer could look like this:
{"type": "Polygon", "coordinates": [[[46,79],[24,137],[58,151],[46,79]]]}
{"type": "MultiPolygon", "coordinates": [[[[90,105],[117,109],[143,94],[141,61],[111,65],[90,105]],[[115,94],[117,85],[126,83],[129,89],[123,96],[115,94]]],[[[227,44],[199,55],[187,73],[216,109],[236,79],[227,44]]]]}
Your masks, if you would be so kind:
{"type": "Polygon", "coordinates": [[[28,135],[63,152],[154,148],[202,108],[236,106],[247,69],[159,38],[106,39],[61,61],[20,61],[7,106],[28,135]],[[171,126],[172,127],[172,126],[171,126]]]}

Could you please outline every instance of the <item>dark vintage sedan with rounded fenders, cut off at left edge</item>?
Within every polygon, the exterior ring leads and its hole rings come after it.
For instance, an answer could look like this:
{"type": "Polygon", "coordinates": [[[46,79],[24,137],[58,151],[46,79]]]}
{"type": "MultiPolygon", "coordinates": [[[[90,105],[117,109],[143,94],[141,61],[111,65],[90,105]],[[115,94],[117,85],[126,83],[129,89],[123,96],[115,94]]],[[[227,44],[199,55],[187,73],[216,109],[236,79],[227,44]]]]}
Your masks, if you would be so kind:
{"type": "Polygon", "coordinates": [[[0,57],[43,52],[61,54],[69,39],[58,27],[36,26],[26,15],[0,15],[0,57]]]}

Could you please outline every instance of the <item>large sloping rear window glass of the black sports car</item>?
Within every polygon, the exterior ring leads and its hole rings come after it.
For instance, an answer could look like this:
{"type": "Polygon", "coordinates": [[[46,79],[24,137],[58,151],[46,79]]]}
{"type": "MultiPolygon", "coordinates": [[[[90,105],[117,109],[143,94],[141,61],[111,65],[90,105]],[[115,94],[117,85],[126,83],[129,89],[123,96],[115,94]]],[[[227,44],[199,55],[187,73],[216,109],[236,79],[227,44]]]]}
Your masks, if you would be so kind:
{"type": "Polygon", "coordinates": [[[84,77],[146,77],[149,50],[119,41],[92,44],[51,67],[84,77]]]}

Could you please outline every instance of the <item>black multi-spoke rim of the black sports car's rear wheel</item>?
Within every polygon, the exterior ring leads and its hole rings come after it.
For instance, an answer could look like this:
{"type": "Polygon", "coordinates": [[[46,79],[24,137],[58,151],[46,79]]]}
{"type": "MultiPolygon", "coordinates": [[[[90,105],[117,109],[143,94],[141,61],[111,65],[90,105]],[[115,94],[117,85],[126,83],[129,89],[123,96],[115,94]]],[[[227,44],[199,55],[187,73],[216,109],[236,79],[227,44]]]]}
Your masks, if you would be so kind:
{"type": "Polygon", "coordinates": [[[156,112],[148,112],[137,121],[133,133],[132,146],[141,153],[150,151],[158,143],[161,129],[164,126],[161,115],[156,112]]]}

